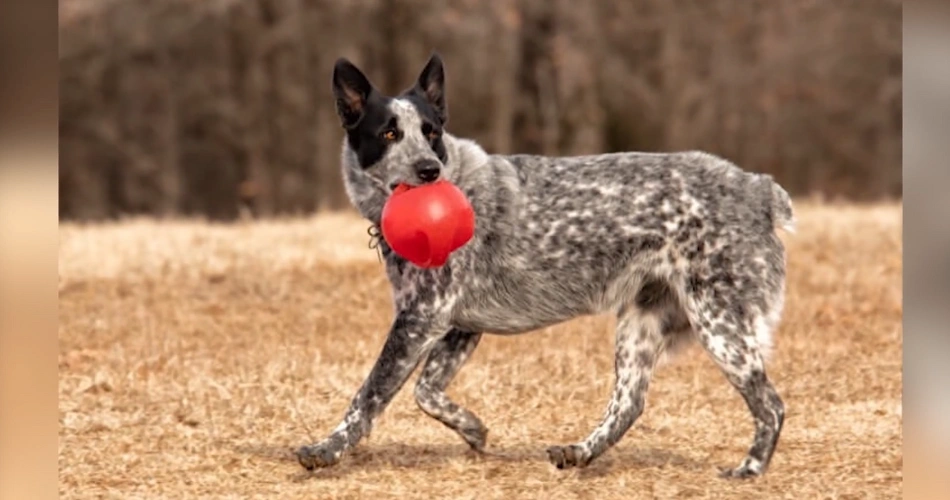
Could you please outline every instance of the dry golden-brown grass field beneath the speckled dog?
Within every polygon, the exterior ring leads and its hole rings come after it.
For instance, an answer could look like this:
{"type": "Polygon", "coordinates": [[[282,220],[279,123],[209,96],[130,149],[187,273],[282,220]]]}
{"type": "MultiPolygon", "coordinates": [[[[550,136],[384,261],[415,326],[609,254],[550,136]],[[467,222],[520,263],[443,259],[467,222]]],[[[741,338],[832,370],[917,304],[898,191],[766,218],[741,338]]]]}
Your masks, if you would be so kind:
{"type": "MultiPolygon", "coordinates": [[[[698,348],[658,370],[646,411],[587,469],[613,383],[609,318],[488,337],[450,394],[489,427],[473,456],[403,390],[370,439],[310,475],[391,318],[366,224],[63,225],[60,492],[70,498],[898,498],[901,208],[798,204],[770,374],[788,416],[772,467],[716,476],[752,439],[741,397],[698,348]]],[[[413,380],[414,381],[414,380],[413,380]]],[[[413,381],[410,381],[412,383],[413,381]]],[[[407,386],[408,389],[408,386],[407,386]]]]}

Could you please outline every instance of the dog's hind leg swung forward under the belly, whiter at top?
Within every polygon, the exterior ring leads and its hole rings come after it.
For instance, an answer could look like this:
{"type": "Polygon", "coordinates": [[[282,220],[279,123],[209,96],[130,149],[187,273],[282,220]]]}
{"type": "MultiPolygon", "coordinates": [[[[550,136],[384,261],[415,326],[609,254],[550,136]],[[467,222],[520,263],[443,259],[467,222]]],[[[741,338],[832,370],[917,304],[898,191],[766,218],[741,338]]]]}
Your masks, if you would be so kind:
{"type": "Polygon", "coordinates": [[[583,442],[548,448],[551,463],[558,469],[584,467],[623,437],[643,413],[647,388],[663,345],[662,316],[658,311],[641,304],[624,308],[617,322],[614,391],[603,419],[583,442]]]}

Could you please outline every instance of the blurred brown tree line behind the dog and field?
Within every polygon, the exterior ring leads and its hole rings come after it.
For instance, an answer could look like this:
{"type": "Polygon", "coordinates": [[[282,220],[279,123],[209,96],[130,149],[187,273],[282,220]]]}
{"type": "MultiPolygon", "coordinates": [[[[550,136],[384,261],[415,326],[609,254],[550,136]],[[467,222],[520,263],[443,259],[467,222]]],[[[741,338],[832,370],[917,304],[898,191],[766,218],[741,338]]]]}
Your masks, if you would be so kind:
{"type": "Polygon", "coordinates": [[[61,0],[60,215],[347,206],[339,56],[445,62],[497,153],[703,149],[794,195],[901,195],[899,0],[61,0]]]}

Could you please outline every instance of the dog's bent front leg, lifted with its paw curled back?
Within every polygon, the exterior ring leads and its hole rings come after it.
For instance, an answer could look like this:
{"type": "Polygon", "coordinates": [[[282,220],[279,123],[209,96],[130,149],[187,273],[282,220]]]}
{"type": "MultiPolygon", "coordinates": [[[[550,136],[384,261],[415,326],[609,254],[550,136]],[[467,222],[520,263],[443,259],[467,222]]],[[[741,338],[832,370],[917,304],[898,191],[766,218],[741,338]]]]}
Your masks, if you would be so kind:
{"type": "Polygon", "coordinates": [[[419,408],[457,432],[477,451],[485,447],[488,430],[472,412],[449,399],[445,389],[478,346],[481,336],[458,329],[449,331],[429,352],[415,389],[419,408]]]}

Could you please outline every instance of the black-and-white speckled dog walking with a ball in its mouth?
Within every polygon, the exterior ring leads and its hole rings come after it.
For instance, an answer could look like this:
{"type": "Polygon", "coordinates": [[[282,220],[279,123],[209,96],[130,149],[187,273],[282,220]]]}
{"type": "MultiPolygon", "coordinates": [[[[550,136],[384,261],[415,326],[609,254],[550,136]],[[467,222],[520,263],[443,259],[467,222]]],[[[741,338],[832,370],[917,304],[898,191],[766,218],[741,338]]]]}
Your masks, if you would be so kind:
{"type": "Polygon", "coordinates": [[[748,455],[723,475],[763,473],[785,414],[764,366],[785,293],[776,228],[794,228],[785,190],[699,152],[490,155],[445,131],[444,82],[438,55],[394,98],[349,61],[334,67],[345,185],[360,213],[378,226],[396,184],[444,178],[468,196],[476,230],[438,269],[415,267],[381,242],[392,327],[342,422],[298,450],[301,465],[339,461],[420,363],[419,407],[482,450],[485,426],[445,394],[482,333],[612,312],[616,379],[603,420],[583,441],[548,448],[550,461],[583,467],[620,440],[643,412],[657,360],[698,340],[755,420],[748,455]]]}

